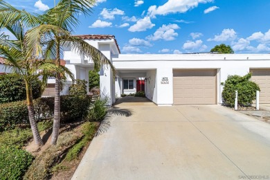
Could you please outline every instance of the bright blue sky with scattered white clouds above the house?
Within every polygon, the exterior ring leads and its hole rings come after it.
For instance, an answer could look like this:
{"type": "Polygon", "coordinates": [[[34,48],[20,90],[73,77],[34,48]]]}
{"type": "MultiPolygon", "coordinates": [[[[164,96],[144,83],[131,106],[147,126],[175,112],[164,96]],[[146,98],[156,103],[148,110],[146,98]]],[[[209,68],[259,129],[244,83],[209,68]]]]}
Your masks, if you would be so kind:
{"type": "MultiPolygon", "coordinates": [[[[57,2],[57,1],[56,1],[57,2]]],[[[42,14],[53,0],[8,0],[42,14]]],[[[98,0],[74,35],[114,35],[121,53],[270,53],[269,0],[98,0]]]]}

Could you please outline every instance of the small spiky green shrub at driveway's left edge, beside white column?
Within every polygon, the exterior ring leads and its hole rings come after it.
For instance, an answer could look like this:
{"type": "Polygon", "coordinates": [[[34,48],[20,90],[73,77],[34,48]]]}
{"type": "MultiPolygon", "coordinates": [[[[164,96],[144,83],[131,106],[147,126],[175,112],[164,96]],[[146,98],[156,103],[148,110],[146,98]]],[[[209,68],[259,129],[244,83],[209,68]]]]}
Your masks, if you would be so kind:
{"type": "Polygon", "coordinates": [[[87,120],[90,121],[103,120],[108,111],[107,102],[108,102],[107,99],[104,100],[98,99],[95,102],[93,102],[89,107],[87,120]]]}

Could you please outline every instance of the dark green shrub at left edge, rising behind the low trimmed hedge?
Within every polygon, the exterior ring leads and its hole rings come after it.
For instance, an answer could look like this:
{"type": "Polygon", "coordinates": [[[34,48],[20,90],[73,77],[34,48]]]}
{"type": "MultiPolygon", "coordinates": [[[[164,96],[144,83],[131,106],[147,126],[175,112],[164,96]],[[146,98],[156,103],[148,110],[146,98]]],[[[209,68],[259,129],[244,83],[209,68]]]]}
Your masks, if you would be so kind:
{"type": "MultiPolygon", "coordinates": [[[[33,98],[42,96],[42,86],[38,79],[33,80],[33,98]]],[[[16,74],[0,75],[0,103],[26,100],[26,84],[24,79],[16,74]]]]}

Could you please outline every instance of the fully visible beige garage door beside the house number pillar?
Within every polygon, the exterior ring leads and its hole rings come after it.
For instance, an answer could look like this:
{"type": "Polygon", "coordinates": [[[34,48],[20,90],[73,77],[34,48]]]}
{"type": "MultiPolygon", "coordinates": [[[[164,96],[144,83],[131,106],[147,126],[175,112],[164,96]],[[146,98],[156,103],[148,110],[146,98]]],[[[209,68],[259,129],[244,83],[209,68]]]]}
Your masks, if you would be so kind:
{"type": "Polygon", "coordinates": [[[174,105],[217,103],[217,70],[174,70],[174,105]]]}

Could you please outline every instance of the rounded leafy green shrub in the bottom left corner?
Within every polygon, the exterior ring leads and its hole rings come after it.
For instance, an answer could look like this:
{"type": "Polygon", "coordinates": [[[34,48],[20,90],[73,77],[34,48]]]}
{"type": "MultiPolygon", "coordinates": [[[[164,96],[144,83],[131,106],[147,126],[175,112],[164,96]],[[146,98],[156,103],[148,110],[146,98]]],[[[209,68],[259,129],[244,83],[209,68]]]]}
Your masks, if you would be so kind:
{"type": "Polygon", "coordinates": [[[15,147],[0,147],[1,179],[22,179],[33,161],[33,156],[15,147]]]}

